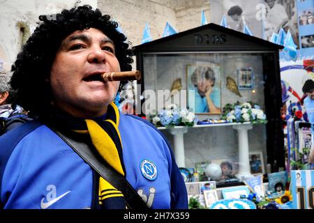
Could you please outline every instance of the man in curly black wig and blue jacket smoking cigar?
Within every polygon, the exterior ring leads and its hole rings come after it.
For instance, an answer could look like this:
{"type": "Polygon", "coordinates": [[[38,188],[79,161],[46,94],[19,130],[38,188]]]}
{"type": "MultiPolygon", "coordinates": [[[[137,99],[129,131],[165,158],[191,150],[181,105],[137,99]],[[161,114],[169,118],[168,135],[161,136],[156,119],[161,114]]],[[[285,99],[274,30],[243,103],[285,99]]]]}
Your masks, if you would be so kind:
{"type": "Polygon", "coordinates": [[[167,141],[142,118],[120,114],[113,100],[124,83],[100,77],[131,70],[117,23],[91,6],[54,17],[39,17],[12,67],[17,102],[38,118],[0,138],[1,206],[136,208],[127,201],[137,195],[148,208],[187,208],[167,141]],[[94,160],[76,153],[82,144],[132,188],[121,192],[94,170],[94,160]]]}

